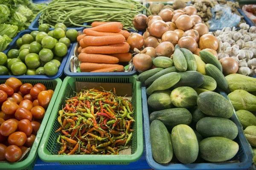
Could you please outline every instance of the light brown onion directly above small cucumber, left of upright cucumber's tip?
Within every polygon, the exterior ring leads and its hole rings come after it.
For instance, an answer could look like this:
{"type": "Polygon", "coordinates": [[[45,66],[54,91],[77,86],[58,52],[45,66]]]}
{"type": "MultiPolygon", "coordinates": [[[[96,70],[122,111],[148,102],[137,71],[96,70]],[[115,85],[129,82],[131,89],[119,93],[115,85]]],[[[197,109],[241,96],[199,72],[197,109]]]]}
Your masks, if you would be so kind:
{"type": "Polygon", "coordinates": [[[174,52],[174,46],[171,42],[161,42],[156,48],[156,57],[165,56],[171,57],[174,52]]]}

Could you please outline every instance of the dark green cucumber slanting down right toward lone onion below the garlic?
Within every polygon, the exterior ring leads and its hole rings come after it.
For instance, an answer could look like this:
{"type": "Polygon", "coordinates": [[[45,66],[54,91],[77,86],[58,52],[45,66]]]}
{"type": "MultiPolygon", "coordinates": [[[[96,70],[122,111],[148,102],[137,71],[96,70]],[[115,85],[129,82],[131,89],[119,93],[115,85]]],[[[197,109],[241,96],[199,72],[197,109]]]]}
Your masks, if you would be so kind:
{"type": "Polygon", "coordinates": [[[206,63],[206,64],[212,64],[215,65],[222,73],[222,65],[221,62],[209,51],[207,50],[202,50],[199,52],[201,59],[206,63]]]}

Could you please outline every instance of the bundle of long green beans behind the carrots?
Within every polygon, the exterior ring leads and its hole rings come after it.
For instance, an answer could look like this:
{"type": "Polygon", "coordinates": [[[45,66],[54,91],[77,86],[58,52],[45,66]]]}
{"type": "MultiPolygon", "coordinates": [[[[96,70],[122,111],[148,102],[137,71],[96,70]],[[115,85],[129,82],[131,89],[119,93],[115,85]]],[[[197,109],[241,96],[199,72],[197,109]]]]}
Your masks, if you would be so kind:
{"type": "Polygon", "coordinates": [[[123,24],[124,29],[135,30],[133,18],[144,8],[135,0],[53,0],[38,12],[42,12],[38,22],[51,27],[56,23],[64,23],[67,27],[91,27],[83,23],[117,21],[123,24]]]}

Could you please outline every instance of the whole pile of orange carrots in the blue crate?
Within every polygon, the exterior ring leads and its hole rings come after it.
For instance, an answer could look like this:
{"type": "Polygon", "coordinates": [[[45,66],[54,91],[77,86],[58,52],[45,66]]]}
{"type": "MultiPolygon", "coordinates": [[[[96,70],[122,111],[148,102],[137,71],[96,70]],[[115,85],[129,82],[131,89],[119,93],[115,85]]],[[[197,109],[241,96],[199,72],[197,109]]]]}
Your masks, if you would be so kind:
{"type": "Polygon", "coordinates": [[[129,62],[132,54],[126,42],[130,33],[122,28],[122,23],[96,21],[83,30],[77,37],[81,72],[124,71],[118,63],[129,62]]]}

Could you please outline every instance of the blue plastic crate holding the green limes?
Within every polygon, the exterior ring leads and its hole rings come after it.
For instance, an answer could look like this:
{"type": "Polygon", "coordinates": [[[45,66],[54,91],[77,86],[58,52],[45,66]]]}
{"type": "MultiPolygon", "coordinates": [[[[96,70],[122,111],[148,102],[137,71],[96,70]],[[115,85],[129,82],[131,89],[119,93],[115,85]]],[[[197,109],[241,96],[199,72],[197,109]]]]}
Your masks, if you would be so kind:
{"type": "MultiPolygon", "coordinates": [[[[11,49],[17,49],[17,45],[16,45],[16,41],[22,37],[24,34],[30,34],[32,31],[30,30],[23,30],[20,31],[19,34],[16,35],[16,37],[13,38],[12,42],[9,44],[9,46],[6,48],[5,51],[3,51],[3,53],[5,53],[7,55],[8,51],[11,49]]],[[[67,54],[63,57],[63,60],[61,62],[60,67],[58,68],[58,72],[57,74],[55,74],[54,76],[46,76],[46,75],[20,75],[20,76],[10,76],[10,75],[6,75],[6,76],[0,76],[0,79],[8,79],[10,77],[16,77],[18,79],[57,79],[58,77],[61,76],[61,74],[64,71],[64,66],[67,62],[67,58],[70,54],[71,48],[73,47],[73,43],[70,44],[70,47],[67,48],[67,54]]]]}

